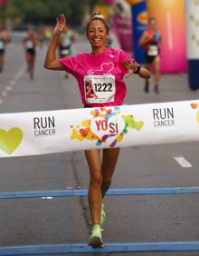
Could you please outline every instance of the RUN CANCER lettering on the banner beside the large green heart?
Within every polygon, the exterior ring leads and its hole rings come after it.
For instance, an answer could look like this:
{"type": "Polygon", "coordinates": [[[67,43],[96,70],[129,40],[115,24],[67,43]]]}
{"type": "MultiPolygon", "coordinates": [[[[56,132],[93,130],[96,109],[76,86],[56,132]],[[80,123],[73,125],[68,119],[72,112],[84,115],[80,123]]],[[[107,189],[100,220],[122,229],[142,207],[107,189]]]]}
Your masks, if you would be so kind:
{"type": "Polygon", "coordinates": [[[33,128],[35,137],[54,136],[56,134],[54,116],[34,117],[33,128]]]}

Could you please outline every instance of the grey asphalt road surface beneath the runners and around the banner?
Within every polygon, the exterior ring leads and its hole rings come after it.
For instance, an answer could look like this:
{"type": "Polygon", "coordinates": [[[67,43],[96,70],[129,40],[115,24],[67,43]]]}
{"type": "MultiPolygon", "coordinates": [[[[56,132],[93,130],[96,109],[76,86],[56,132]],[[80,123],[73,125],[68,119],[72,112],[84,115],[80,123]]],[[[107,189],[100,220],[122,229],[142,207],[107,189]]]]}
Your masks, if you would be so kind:
{"type": "MultiPolygon", "coordinates": [[[[0,113],[81,107],[75,80],[71,76],[65,79],[64,72],[43,69],[45,45],[37,50],[35,78],[29,80],[24,51],[20,40],[17,42],[7,46],[5,70],[0,74],[0,113]]],[[[90,47],[86,41],[78,41],[72,50],[74,54],[89,52],[90,47]]],[[[143,81],[137,75],[127,80],[127,86],[126,103],[131,104],[199,98],[199,91],[189,90],[187,74],[163,74],[159,95],[155,95],[152,88],[145,94],[143,81]]],[[[82,152],[1,159],[0,192],[87,189],[88,182],[88,167],[82,152]]],[[[198,184],[198,143],[178,143],[121,149],[111,188],[198,184]],[[179,156],[190,163],[190,167],[176,162],[179,156]]],[[[108,215],[103,231],[105,242],[199,241],[198,194],[113,196],[106,198],[105,206],[108,215]]],[[[0,246],[87,242],[89,233],[86,198],[0,201],[0,246]]],[[[191,256],[199,255],[199,251],[125,255],[191,256]]]]}

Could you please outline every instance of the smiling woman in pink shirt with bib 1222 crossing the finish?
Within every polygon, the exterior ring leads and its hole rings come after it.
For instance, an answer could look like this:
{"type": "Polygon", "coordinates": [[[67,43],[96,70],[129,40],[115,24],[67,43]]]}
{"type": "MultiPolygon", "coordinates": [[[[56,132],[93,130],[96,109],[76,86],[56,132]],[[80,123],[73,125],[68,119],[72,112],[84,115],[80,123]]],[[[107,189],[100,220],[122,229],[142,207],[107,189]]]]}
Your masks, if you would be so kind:
{"type": "MultiPolygon", "coordinates": [[[[72,74],[80,88],[81,100],[86,108],[110,107],[122,105],[127,88],[124,76],[138,75],[147,79],[149,71],[137,64],[122,50],[107,48],[109,24],[103,15],[94,14],[87,23],[87,38],[91,52],[58,59],[56,49],[66,24],[65,16],[60,15],[53,31],[52,41],[48,47],[44,67],[51,70],[65,70],[72,74]]],[[[119,148],[95,148],[85,151],[90,170],[88,199],[90,205],[91,234],[89,245],[102,247],[101,225],[106,213],[102,199],[109,190],[112,175],[118,161],[119,148]]]]}

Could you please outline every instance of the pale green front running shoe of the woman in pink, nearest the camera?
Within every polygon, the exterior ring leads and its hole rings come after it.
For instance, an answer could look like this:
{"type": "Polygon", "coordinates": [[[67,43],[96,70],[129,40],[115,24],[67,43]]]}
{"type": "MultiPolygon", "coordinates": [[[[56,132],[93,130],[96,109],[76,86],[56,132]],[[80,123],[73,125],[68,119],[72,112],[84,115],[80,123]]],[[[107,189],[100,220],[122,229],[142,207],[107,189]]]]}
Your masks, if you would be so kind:
{"type": "Polygon", "coordinates": [[[90,234],[89,245],[93,248],[103,247],[103,241],[101,238],[101,228],[100,224],[95,224],[92,226],[92,231],[90,234]]]}

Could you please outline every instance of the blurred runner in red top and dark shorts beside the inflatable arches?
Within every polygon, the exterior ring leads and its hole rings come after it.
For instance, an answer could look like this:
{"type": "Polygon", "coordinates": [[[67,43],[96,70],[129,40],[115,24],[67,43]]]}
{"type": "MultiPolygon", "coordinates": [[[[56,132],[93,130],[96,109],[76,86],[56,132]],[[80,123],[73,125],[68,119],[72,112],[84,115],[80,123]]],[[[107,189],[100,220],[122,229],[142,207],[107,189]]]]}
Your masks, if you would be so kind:
{"type": "MultiPolygon", "coordinates": [[[[141,35],[139,44],[145,48],[145,67],[154,71],[154,92],[159,94],[159,80],[160,80],[160,49],[161,35],[156,28],[156,19],[151,17],[148,20],[147,30],[141,35]]],[[[149,92],[149,80],[146,79],[145,93],[149,92]]]]}

